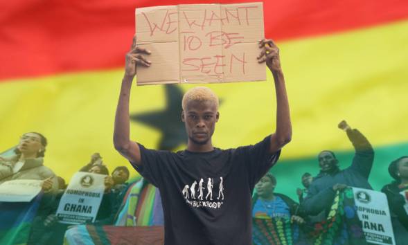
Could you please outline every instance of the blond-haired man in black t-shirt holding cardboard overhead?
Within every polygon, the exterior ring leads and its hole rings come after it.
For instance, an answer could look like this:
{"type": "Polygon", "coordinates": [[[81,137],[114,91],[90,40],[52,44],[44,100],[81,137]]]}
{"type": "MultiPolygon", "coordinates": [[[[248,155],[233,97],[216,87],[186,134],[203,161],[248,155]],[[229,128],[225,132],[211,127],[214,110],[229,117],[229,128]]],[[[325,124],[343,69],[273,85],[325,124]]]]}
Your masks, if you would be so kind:
{"type": "Polygon", "coordinates": [[[129,100],[136,65],[154,66],[145,56],[150,51],[136,47],[134,38],[132,50],[126,55],[114,146],[159,188],[165,244],[251,244],[252,190],[276,163],[281,148],[292,136],[278,47],[272,40],[263,39],[259,48],[258,62],[266,61],[274,77],[276,132],[256,145],[228,150],[213,147],[211,137],[220,118],[218,97],[206,87],[195,87],[182,100],[187,149],[173,153],[146,149],[130,140],[129,100]]]}

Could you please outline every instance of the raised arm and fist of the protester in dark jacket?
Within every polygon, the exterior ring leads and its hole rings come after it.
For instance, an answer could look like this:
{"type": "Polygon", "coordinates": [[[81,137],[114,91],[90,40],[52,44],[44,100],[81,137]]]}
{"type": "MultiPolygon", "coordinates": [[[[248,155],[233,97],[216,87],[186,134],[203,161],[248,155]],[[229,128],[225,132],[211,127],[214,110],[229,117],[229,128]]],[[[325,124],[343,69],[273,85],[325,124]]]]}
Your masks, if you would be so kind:
{"type": "Polygon", "coordinates": [[[359,130],[351,129],[345,120],[339,123],[339,129],[346,131],[355,149],[351,169],[360,172],[362,176],[368,179],[374,162],[374,150],[369,140],[359,130]]]}

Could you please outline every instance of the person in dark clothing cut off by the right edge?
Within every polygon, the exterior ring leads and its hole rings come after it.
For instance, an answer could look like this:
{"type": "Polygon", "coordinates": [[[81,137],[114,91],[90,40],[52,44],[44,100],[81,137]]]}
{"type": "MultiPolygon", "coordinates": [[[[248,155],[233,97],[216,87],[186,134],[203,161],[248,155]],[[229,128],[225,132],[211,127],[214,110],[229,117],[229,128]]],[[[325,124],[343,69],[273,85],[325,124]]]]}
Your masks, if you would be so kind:
{"type": "Polygon", "coordinates": [[[390,211],[408,231],[408,204],[402,195],[408,192],[408,156],[401,156],[392,161],[388,172],[395,181],[384,185],[381,191],[387,195],[390,211]]]}

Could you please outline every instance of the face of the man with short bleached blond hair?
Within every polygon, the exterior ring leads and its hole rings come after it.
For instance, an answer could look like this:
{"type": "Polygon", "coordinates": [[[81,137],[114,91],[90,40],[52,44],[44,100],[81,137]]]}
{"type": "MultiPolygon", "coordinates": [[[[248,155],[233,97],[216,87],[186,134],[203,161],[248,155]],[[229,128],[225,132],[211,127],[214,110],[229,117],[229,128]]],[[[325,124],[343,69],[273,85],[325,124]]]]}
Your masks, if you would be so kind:
{"type": "Polygon", "coordinates": [[[205,145],[215,130],[220,114],[211,101],[190,101],[181,114],[188,138],[197,145],[205,145]]]}

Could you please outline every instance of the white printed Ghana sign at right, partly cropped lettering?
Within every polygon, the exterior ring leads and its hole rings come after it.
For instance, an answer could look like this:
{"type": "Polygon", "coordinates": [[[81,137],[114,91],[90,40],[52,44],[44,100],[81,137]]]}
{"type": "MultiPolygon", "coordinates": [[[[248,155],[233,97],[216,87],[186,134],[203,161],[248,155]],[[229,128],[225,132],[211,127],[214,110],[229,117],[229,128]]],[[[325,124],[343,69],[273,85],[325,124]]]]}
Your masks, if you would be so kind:
{"type": "Polygon", "coordinates": [[[382,192],[353,188],[357,215],[367,242],[373,244],[393,244],[395,238],[387,197],[382,192]]]}

